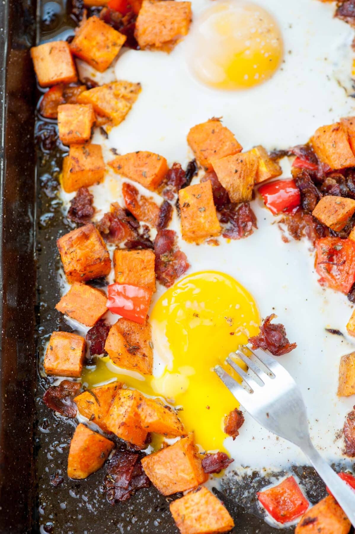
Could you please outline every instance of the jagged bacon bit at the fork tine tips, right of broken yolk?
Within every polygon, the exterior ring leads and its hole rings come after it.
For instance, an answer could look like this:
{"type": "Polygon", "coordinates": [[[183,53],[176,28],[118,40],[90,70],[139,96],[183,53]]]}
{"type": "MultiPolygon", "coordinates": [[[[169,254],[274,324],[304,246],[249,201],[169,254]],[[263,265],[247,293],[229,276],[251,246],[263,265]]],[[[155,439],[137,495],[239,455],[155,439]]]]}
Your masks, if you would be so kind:
{"type": "Polygon", "coordinates": [[[274,356],[282,356],[295,349],[297,344],[288,341],[284,325],[271,324],[275,318],[275,313],[271,313],[261,325],[259,335],[250,337],[248,341],[253,349],[269,350],[274,356]]]}

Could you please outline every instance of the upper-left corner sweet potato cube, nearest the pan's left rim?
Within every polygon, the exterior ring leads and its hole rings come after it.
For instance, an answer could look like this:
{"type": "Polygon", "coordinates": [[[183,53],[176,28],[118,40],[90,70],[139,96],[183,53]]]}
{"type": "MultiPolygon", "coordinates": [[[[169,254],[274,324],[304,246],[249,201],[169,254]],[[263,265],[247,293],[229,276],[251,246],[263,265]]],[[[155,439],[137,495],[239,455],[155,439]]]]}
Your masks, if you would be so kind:
{"type": "Polygon", "coordinates": [[[69,44],[66,41],[51,41],[31,48],[38,83],[50,87],[58,83],[76,82],[78,79],[69,44]]]}

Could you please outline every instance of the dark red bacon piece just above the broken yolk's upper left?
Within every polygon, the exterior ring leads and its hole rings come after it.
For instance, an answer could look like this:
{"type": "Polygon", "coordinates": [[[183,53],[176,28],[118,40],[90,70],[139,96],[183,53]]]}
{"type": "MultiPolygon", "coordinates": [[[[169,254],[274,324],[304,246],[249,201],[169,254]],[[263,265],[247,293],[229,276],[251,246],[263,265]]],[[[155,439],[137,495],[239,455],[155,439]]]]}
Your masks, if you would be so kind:
{"type": "Polygon", "coordinates": [[[176,278],[188,270],[190,264],[186,255],[176,245],[176,232],[158,230],[154,242],[155,273],[157,280],[165,287],[171,287],[176,278]]]}

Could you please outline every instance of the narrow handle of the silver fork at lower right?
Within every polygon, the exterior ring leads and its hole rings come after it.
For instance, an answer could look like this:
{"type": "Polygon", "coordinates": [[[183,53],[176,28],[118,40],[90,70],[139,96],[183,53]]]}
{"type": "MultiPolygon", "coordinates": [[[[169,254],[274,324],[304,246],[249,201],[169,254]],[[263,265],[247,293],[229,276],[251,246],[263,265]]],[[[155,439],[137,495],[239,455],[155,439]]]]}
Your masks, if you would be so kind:
{"type": "Polygon", "coordinates": [[[355,527],[355,491],[338,477],[310,440],[303,443],[301,449],[355,527]]]}

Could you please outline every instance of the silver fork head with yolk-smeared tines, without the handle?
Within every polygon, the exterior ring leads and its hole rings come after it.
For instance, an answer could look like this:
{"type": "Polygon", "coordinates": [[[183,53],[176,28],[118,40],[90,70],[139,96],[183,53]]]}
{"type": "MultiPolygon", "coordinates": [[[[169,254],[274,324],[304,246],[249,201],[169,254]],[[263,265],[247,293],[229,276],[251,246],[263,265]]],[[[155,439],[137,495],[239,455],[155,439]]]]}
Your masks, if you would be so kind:
{"type": "MultiPolygon", "coordinates": [[[[240,362],[240,363],[241,363],[240,362]]],[[[274,434],[300,445],[309,439],[301,391],[286,369],[268,352],[245,345],[227,358],[240,383],[220,365],[215,372],[252,417],[274,434]],[[248,366],[244,371],[236,359],[248,366]]]]}

